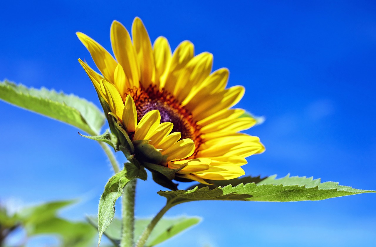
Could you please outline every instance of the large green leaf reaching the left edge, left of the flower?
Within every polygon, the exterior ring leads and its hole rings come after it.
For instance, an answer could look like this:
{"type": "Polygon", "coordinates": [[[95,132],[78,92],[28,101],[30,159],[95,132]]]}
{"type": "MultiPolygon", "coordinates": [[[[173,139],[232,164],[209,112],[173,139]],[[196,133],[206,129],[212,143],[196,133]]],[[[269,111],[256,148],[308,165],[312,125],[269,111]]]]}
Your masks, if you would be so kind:
{"type": "Polygon", "coordinates": [[[105,116],[93,103],[73,94],[66,95],[44,87],[27,88],[22,84],[3,81],[0,83],[0,99],[71,124],[91,135],[98,135],[105,123],[105,116]]]}

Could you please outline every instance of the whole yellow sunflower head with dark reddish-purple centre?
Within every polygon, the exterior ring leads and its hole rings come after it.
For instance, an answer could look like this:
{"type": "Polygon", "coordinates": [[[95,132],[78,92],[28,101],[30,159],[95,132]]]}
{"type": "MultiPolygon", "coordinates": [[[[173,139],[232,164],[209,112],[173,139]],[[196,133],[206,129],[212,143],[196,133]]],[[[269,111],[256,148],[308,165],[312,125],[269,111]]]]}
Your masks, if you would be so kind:
{"type": "MultiPolygon", "coordinates": [[[[230,109],[244,95],[244,87],[226,89],[229,71],[211,73],[213,55],[194,56],[194,46],[183,41],[171,53],[165,37],[153,46],[136,17],[132,40],[121,23],[111,26],[115,58],[99,43],[77,32],[102,75],[79,59],[101,97],[123,124],[132,143],[150,144],[164,157],[155,161],[182,168],[175,179],[224,180],[244,175],[246,157],[264,152],[258,137],[238,133],[256,121],[230,109]]],[[[142,156],[142,155],[141,155],[142,156]]],[[[137,157],[143,159],[143,157],[137,157]]]]}

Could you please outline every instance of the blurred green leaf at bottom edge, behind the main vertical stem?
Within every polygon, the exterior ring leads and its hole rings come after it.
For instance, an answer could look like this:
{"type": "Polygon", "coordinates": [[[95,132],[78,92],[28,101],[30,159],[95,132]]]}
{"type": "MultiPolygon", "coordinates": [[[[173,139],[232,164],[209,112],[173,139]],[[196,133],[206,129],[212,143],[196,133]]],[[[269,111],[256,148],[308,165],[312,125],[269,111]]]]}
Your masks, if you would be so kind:
{"type": "MultiPolygon", "coordinates": [[[[143,230],[147,227],[152,219],[135,219],[135,241],[141,236],[143,230]]],[[[97,218],[88,217],[88,221],[97,227],[97,218]]],[[[198,224],[201,221],[199,217],[181,216],[177,218],[162,218],[152,233],[149,236],[149,240],[146,243],[146,247],[155,246],[161,242],[172,238],[176,234],[188,229],[191,226],[198,224]]],[[[109,227],[103,233],[115,246],[120,246],[121,238],[121,219],[114,218],[109,227]]]]}

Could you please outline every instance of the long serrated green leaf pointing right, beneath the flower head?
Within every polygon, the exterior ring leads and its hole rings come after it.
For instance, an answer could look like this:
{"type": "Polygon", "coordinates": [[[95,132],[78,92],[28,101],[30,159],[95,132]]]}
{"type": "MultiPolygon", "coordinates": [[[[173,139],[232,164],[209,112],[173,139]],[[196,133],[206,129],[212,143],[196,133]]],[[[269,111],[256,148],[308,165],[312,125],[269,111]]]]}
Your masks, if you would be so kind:
{"type": "Polygon", "coordinates": [[[374,190],[359,190],[348,186],[341,186],[335,182],[321,183],[320,179],[304,177],[290,177],[276,179],[270,176],[258,184],[239,184],[235,187],[228,185],[209,189],[195,187],[191,190],[160,191],[159,195],[167,198],[172,205],[188,201],[202,200],[235,200],[235,201],[317,201],[338,196],[355,195],[376,192],[374,190]]]}

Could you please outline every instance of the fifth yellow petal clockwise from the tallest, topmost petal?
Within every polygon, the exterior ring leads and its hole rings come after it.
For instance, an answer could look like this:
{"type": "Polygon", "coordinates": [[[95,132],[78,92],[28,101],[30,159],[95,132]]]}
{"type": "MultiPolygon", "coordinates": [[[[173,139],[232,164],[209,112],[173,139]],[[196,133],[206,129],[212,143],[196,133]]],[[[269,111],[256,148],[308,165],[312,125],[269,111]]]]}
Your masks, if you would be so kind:
{"type": "Polygon", "coordinates": [[[215,93],[203,99],[202,103],[192,110],[192,115],[197,121],[200,121],[220,110],[227,109],[235,105],[243,97],[243,95],[244,87],[230,87],[225,91],[215,93]]]}

